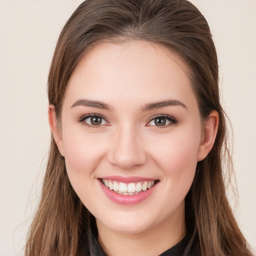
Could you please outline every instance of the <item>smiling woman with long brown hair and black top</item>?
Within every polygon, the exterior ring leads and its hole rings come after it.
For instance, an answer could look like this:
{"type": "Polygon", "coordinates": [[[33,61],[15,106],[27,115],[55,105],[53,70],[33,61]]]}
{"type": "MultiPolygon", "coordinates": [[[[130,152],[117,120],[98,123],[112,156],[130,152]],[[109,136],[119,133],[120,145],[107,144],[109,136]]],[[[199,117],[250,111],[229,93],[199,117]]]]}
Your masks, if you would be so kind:
{"type": "Polygon", "coordinates": [[[225,196],[216,51],[190,2],[84,1],[48,99],[26,255],[251,255],[225,196]]]}

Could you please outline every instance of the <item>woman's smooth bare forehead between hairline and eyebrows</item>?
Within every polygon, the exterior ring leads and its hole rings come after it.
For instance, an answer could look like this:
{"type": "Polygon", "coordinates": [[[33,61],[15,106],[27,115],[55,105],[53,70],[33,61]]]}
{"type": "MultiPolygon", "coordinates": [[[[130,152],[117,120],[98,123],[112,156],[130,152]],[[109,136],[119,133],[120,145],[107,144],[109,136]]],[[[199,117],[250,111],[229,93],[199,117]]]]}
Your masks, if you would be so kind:
{"type": "Polygon", "coordinates": [[[104,42],[84,54],[68,81],[66,97],[141,104],[166,97],[181,100],[194,97],[187,70],[160,44],[104,42]]]}

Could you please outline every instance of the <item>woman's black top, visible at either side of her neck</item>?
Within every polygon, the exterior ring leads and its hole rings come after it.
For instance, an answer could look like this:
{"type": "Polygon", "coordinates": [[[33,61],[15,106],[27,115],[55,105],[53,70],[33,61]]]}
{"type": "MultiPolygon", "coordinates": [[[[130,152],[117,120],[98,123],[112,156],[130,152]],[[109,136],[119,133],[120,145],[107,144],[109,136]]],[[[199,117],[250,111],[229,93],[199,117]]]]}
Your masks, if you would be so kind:
{"type": "MultiPolygon", "coordinates": [[[[89,255],[90,256],[107,256],[98,244],[97,239],[93,234],[88,234],[89,238],[89,255]]],[[[189,249],[190,237],[186,235],[180,242],[172,246],[171,248],[162,252],[159,256],[198,256],[200,255],[198,242],[193,242],[189,249]],[[186,252],[187,251],[187,252],[186,252]]]]}

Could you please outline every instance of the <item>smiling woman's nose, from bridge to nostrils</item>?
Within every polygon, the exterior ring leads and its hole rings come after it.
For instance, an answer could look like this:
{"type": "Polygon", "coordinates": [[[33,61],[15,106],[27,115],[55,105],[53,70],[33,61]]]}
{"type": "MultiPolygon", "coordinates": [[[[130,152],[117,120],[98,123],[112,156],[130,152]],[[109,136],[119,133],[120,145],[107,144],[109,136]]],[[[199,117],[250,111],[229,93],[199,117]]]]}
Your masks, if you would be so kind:
{"type": "Polygon", "coordinates": [[[147,160],[142,136],[131,127],[115,132],[110,143],[108,161],[121,169],[143,165],[147,160]]]}

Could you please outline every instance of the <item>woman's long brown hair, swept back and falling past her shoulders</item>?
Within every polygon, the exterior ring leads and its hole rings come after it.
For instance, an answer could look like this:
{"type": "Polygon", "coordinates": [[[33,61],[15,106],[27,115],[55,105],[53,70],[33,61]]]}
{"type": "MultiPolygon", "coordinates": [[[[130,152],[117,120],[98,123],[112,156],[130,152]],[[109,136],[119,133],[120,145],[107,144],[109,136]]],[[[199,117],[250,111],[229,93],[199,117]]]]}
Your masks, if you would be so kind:
{"type": "MultiPolygon", "coordinates": [[[[212,150],[198,162],[185,197],[190,235],[186,254],[195,241],[201,255],[251,255],[226,198],[223,162],[232,164],[227,128],[219,101],[218,62],[207,21],[187,0],[86,0],[63,27],[48,75],[48,100],[60,119],[67,81],[85,51],[109,40],[147,40],[175,52],[188,66],[201,118],[215,109],[219,126],[212,150]]],[[[228,176],[228,175],[227,175],[228,176]]],[[[53,137],[41,199],[27,237],[26,256],[79,255],[87,246],[83,236],[95,228],[94,217],[75,194],[64,158],[53,137]]]]}

